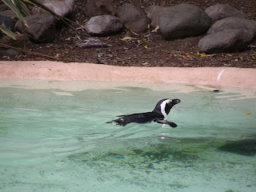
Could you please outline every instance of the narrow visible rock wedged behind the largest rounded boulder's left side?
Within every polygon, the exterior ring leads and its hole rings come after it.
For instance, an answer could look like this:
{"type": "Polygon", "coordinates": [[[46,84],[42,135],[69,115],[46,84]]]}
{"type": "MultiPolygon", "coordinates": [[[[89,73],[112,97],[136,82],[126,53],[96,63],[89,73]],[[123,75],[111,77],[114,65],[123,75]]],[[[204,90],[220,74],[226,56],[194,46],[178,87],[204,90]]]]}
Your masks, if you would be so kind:
{"type": "Polygon", "coordinates": [[[159,26],[159,15],[169,8],[164,6],[149,6],[146,10],[146,17],[149,18],[151,26],[154,28],[159,26]]]}

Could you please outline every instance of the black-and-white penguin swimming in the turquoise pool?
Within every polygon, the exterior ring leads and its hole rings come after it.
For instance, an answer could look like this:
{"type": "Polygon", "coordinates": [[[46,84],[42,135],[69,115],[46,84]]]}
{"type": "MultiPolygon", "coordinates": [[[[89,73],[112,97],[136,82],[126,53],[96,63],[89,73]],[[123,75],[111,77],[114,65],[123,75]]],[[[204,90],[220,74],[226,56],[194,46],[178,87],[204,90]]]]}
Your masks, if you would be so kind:
{"type": "Polygon", "coordinates": [[[166,118],[167,115],[170,113],[170,109],[179,102],[181,102],[179,99],[165,98],[159,101],[158,104],[154,107],[154,110],[151,112],[119,115],[117,116],[118,119],[115,119],[111,122],[116,122],[118,126],[126,126],[130,122],[158,122],[160,124],[166,124],[174,128],[177,125],[174,122],[166,121],[166,118]]]}

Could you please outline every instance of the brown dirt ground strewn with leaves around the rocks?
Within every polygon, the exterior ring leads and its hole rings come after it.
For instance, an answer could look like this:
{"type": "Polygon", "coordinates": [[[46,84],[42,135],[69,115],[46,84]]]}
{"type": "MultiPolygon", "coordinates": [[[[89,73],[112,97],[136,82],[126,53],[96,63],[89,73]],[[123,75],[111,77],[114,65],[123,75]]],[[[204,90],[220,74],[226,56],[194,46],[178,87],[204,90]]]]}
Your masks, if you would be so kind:
{"type": "MultiPolygon", "coordinates": [[[[226,3],[242,10],[251,19],[256,19],[255,0],[123,0],[117,1],[116,6],[132,2],[143,10],[151,5],[175,6],[179,3],[190,3],[206,9],[216,3],[226,3]]],[[[73,14],[70,20],[81,39],[88,38],[88,34],[81,26],[88,20],[82,13],[83,0],[76,0],[73,14]]],[[[11,56],[6,53],[6,48],[0,48],[0,60],[50,60],[62,62],[90,62],[111,66],[179,66],[179,67],[203,67],[203,66],[233,66],[244,68],[256,68],[256,41],[248,46],[248,49],[235,53],[204,54],[198,52],[198,41],[203,37],[192,37],[166,41],[158,32],[149,29],[145,34],[133,34],[124,30],[121,34],[99,38],[108,46],[101,48],[82,49],[76,46],[78,35],[68,26],[60,26],[56,39],[52,43],[32,44],[27,50],[34,53],[23,53],[11,56]],[[129,37],[128,39],[123,39],[129,37]]]]}

